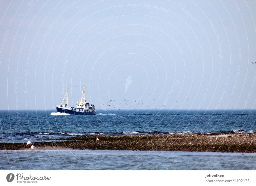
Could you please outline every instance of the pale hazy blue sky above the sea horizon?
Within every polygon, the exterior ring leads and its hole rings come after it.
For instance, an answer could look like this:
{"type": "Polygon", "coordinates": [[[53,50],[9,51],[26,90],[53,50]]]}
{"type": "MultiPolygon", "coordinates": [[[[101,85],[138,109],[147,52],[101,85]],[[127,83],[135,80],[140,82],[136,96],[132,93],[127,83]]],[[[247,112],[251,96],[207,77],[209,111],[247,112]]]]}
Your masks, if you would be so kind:
{"type": "Polygon", "coordinates": [[[0,109],[55,109],[66,83],[69,106],[86,84],[96,109],[255,109],[255,7],[0,1],[0,109]]]}

